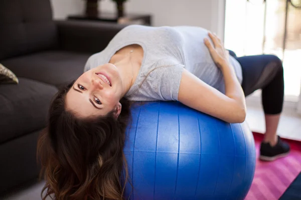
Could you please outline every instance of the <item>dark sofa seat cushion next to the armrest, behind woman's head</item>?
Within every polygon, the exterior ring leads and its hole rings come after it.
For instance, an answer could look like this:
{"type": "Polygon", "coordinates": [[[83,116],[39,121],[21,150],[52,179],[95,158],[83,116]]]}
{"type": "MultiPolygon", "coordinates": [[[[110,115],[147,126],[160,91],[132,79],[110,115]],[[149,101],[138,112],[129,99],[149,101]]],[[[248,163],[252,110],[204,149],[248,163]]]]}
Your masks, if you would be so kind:
{"type": "Polygon", "coordinates": [[[89,54],[71,51],[44,51],[1,62],[18,77],[61,86],[83,73],[88,57],[89,54]]]}

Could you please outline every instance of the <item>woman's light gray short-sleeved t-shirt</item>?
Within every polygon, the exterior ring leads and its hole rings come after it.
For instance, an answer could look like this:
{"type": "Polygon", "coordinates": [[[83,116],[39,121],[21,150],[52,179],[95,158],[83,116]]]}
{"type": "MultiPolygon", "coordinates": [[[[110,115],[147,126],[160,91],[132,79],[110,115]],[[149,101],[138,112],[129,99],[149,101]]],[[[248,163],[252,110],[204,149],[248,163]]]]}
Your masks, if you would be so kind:
{"type": "MultiPolygon", "coordinates": [[[[124,46],[139,44],[143,48],[143,60],[135,82],[125,95],[129,100],[178,100],[184,68],[224,93],[223,74],[203,42],[205,37],[208,31],[195,26],[129,25],[120,30],[105,49],[91,55],[84,70],[109,62],[124,46]]],[[[230,62],[241,83],[239,62],[232,56],[230,62]]]]}

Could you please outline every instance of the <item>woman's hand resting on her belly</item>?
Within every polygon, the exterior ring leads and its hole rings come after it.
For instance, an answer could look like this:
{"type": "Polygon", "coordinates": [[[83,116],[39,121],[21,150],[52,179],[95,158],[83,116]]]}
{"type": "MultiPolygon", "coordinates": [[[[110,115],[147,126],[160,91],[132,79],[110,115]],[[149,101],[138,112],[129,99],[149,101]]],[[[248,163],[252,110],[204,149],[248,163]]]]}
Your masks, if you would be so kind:
{"type": "Polygon", "coordinates": [[[210,55],[215,64],[219,68],[222,68],[225,63],[229,63],[229,51],[224,48],[224,45],[221,42],[220,38],[218,38],[218,36],[211,32],[209,32],[208,35],[213,41],[214,46],[210,43],[208,38],[204,39],[204,43],[209,49],[210,55]]]}

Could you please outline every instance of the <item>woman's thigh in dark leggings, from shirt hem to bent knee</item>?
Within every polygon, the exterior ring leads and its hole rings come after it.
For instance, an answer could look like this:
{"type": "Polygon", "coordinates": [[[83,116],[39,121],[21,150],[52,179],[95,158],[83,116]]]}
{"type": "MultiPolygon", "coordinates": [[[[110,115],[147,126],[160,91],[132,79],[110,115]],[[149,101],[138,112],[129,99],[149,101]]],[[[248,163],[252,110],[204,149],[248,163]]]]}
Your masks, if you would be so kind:
{"type": "Polygon", "coordinates": [[[281,60],[275,55],[250,55],[236,59],[242,68],[241,86],[246,96],[268,84],[282,67],[281,60]]]}

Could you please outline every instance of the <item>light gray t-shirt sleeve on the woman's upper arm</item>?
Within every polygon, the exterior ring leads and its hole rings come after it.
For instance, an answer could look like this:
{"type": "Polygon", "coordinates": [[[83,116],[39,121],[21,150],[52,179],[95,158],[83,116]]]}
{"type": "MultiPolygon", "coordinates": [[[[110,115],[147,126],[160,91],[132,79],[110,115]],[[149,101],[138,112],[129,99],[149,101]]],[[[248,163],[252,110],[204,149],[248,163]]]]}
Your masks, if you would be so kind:
{"type": "Polygon", "coordinates": [[[163,66],[152,72],[152,87],[162,100],[178,100],[184,65],[163,66]]]}

